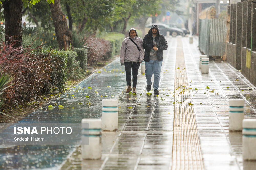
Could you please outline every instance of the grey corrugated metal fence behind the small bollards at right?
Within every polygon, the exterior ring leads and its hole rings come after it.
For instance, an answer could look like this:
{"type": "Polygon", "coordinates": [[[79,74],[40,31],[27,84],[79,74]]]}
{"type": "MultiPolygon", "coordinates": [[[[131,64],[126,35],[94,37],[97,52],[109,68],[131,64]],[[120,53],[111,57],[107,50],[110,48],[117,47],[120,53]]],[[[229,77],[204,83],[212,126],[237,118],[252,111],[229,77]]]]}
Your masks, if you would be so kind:
{"type": "Polygon", "coordinates": [[[223,56],[226,51],[226,20],[199,20],[199,49],[207,56],[223,56]]]}

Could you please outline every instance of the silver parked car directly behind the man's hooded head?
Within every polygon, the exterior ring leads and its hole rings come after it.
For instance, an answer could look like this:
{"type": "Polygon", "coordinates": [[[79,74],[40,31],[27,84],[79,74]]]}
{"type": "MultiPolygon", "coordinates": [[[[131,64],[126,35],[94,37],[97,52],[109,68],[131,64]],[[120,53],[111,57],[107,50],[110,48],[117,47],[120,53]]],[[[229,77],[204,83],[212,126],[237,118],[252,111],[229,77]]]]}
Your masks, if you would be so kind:
{"type": "MultiPolygon", "coordinates": [[[[162,35],[167,35],[167,31],[170,32],[170,35],[172,35],[173,37],[176,37],[177,35],[182,35],[184,36],[184,32],[183,30],[179,29],[179,28],[171,28],[169,27],[168,25],[165,25],[165,24],[158,24],[156,23],[158,26],[159,26],[159,31],[162,35]]],[[[146,25],[146,29],[145,31],[149,31],[149,29],[152,27],[153,24],[148,24],[146,25]]],[[[147,33],[147,32],[146,32],[147,33]]]]}

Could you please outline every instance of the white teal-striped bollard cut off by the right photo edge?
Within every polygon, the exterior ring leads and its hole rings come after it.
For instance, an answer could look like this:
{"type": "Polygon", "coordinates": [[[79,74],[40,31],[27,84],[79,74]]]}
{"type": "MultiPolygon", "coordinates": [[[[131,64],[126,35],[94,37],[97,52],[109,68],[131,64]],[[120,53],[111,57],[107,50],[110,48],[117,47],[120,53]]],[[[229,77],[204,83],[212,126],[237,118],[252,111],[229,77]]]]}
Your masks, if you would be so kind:
{"type": "Polygon", "coordinates": [[[243,159],[256,160],[256,119],[243,120],[243,159]]]}

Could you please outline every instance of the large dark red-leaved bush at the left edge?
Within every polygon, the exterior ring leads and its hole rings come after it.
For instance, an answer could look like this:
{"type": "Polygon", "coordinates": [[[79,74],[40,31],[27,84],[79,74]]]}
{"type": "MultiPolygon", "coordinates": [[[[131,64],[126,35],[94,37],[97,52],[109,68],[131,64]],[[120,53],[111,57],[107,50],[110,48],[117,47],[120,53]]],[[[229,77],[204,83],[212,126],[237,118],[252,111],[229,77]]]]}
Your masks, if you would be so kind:
{"type": "Polygon", "coordinates": [[[51,51],[46,55],[40,48],[23,50],[13,48],[12,44],[0,44],[1,70],[14,76],[14,80],[10,82],[14,85],[7,88],[3,94],[8,106],[17,106],[49,91],[46,85],[51,84],[52,58],[50,56],[51,51]]]}

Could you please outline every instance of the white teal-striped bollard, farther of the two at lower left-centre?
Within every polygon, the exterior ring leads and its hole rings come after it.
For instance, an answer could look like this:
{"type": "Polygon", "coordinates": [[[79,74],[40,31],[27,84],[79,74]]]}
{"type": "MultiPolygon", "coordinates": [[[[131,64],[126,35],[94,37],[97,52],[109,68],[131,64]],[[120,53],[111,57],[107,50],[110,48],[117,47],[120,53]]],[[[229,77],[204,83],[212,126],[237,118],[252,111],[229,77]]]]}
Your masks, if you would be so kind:
{"type": "Polygon", "coordinates": [[[102,130],[115,131],[118,129],[118,100],[102,100],[102,130]]]}

